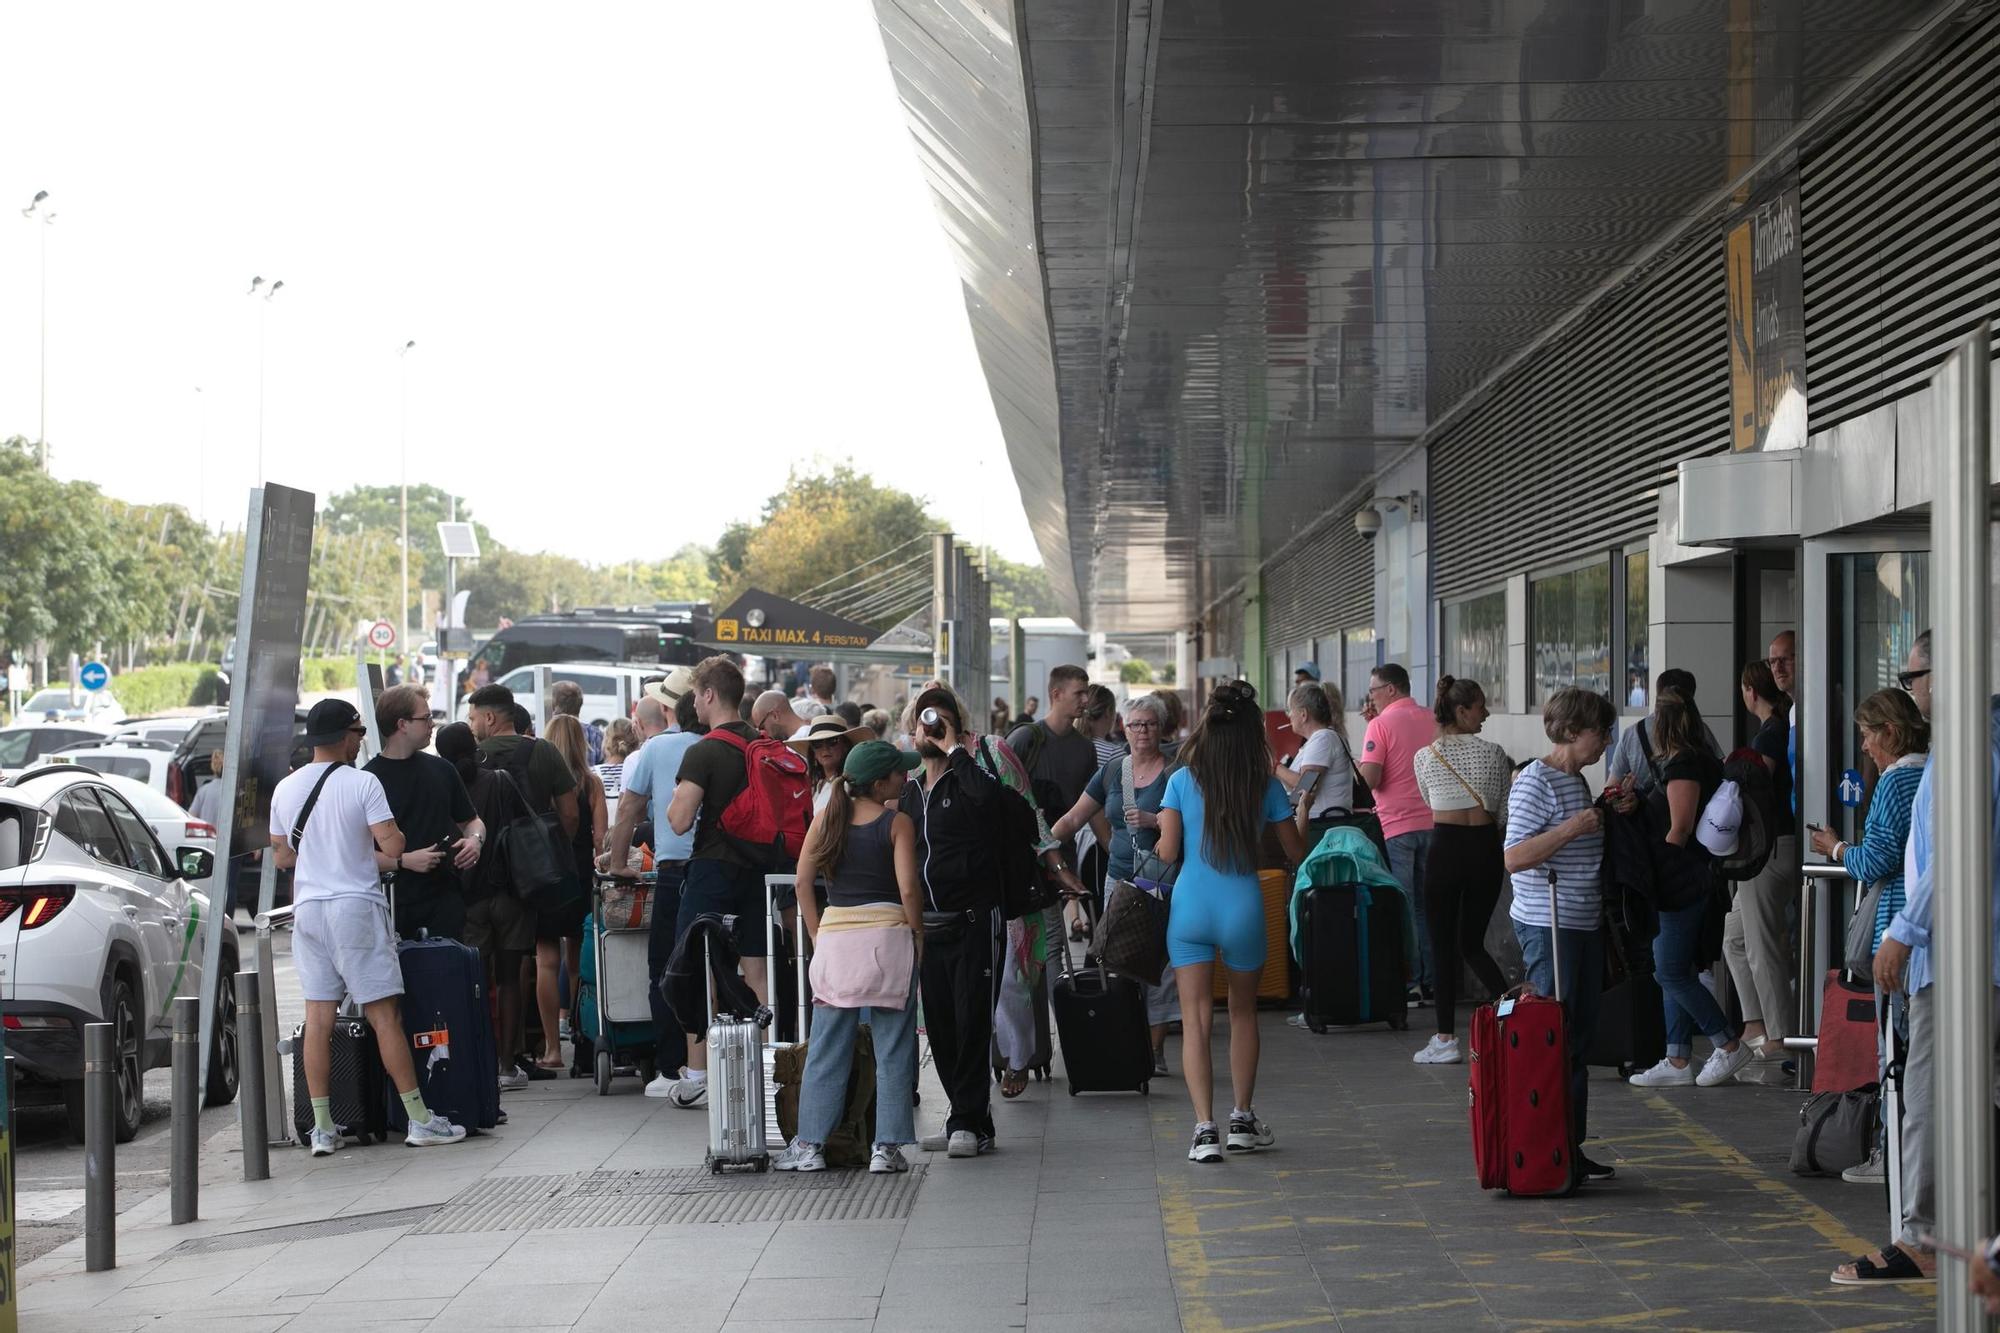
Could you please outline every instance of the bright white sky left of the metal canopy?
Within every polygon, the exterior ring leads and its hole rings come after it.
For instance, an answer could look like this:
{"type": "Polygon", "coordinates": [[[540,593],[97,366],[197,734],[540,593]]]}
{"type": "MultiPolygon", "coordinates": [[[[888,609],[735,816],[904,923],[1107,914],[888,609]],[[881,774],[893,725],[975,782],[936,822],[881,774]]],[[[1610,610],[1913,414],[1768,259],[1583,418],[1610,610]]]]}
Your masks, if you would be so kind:
{"type": "Polygon", "coordinates": [[[852,460],[1038,558],[866,0],[44,0],[0,44],[0,434],[46,242],[58,476],[236,526],[260,434],[322,500],[406,438],[510,546],[620,562],[852,460]]]}

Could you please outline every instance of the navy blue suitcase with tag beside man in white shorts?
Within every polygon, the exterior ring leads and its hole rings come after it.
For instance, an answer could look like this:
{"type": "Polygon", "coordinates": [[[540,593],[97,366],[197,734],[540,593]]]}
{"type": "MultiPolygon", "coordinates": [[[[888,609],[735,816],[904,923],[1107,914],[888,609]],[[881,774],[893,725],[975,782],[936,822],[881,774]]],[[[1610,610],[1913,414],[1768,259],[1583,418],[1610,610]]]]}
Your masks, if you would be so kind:
{"type": "MultiPolygon", "coordinates": [[[[456,939],[406,939],[402,961],[402,1029],[410,1035],[416,1087],[424,1105],[464,1125],[466,1133],[500,1123],[500,1059],[486,1011],[486,965],[480,951],[456,939]]],[[[410,1117],[388,1089],[390,1129],[410,1117]]]]}

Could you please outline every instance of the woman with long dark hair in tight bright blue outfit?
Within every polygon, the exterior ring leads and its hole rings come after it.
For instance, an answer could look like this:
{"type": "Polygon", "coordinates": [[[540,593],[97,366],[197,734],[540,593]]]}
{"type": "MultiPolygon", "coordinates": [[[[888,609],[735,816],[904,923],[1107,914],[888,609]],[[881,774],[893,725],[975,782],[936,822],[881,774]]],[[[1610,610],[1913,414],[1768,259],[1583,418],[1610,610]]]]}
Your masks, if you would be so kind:
{"type": "Polygon", "coordinates": [[[1270,743],[1256,691],[1220,685],[1208,697],[1194,735],[1180,747],[1182,769],[1166,781],[1160,801],[1162,861],[1180,861],[1166,925],[1166,953],[1180,985],[1180,1063],[1194,1103],[1194,1143],[1188,1161],[1222,1161],[1214,1121],[1214,1071],[1208,1035],[1214,1025],[1212,971],[1216,951],[1228,969],[1232,1153],[1270,1147],[1270,1125],[1256,1117],[1256,983],[1264,969],[1264,895],[1258,889],[1258,849],[1264,827],[1276,825],[1286,861],[1306,855],[1292,823],[1284,785],[1270,775],[1270,743]]]}

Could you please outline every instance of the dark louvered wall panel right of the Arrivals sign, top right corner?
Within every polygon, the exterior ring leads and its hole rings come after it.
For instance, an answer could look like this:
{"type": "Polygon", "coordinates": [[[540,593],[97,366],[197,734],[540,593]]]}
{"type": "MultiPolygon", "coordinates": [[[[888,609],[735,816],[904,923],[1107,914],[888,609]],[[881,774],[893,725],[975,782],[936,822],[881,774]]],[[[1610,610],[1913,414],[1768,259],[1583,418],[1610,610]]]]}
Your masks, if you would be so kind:
{"type": "Polygon", "coordinates": [[[1900,398],[2000,316],[2000,10],[1800,162],[1812,430],[1900,398]]]}

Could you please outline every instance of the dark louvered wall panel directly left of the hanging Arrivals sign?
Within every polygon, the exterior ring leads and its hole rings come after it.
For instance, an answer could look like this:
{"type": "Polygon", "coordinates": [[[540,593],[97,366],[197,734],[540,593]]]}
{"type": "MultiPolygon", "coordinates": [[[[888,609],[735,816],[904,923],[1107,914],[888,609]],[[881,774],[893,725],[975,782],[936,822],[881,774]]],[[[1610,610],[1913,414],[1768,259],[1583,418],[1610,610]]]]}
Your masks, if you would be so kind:
{"type": "Polygon", "coordinates": [[[1718,234],[1604,300],[1432,442],[1432,594],[1644,536],[1674,464],[1728,438],[1718,234]]]}

